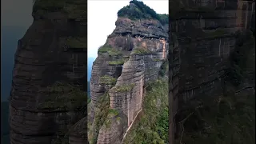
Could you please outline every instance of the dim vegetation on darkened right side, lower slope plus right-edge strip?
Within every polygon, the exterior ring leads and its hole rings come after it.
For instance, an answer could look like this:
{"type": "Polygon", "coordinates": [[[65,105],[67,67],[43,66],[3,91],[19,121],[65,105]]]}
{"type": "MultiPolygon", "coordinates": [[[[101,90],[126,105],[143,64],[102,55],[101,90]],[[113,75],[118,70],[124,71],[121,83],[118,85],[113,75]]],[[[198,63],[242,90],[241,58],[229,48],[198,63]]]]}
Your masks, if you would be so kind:
{"type": "MultiPolygon", "coordinates": [[[[234,91],[244,85],[248,71],[255,73],[255,41],[250,31],[238,32],[236,38],[223,94],[217,98],[202,95],[182,105],[182,110],[176,115],[180,131],[177,144],[255,142],[255,95],[234,91]],[[198,106],[193,106],[195,102],[198,106]]],[[[255,78],[250,76],[251,79],[255,78]]]]}

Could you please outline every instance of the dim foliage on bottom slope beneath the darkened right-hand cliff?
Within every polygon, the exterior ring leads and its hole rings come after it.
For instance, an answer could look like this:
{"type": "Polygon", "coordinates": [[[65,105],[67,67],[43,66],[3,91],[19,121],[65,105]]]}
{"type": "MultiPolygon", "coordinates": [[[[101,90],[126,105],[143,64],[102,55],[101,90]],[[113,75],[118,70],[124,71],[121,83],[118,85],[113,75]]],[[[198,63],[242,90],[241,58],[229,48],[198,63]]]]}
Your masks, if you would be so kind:
{"type": "Polygon", "coordinates": [[[196,109],[188,106],[179,115],[184,131],[177,144],[242,144],[255,142],[255,96],[202,97],[196,109]],[[190,117],[188,117],[190,115],[190,117]]]}

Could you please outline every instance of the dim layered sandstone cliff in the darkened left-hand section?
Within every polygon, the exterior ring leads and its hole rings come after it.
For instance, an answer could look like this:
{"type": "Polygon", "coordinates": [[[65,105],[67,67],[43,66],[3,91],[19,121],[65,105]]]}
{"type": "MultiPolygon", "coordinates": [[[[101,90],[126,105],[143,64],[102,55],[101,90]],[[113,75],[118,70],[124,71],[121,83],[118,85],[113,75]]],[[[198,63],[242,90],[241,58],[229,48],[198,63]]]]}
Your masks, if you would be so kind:
{"type": "Polygon", "coordinates": [[[15,54],[12,144],[68,143],[66,133],[85,117],[87,26],[80,8],[86,3],[35,2],[34,22],[18,41],[15,54]]]}

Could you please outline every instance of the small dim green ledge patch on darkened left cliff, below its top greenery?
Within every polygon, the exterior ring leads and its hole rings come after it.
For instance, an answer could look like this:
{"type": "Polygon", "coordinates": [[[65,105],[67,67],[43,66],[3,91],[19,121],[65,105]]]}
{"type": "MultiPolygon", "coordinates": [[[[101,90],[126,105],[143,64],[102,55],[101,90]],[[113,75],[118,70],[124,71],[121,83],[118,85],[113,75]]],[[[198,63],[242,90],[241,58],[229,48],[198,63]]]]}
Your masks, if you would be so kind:
{"type": "Polygon", "coordinates": [[[86,49],[87,38],[67,38],[66,45],[70,48],[86,49]]]}

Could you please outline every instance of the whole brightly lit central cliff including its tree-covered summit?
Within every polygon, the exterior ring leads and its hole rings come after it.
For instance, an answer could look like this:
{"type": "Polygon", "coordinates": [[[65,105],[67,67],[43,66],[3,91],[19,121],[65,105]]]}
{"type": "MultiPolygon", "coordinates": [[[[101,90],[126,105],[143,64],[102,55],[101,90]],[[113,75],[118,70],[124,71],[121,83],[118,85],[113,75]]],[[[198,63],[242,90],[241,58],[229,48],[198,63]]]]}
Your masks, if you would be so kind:
{"type": "Polygon", "coordinates": [[[122,143],[142,110],[144,89],[158,78],[169,50],[164,17],[137,1],[118,11],[90,78],[90,143],[122,143]]]}

